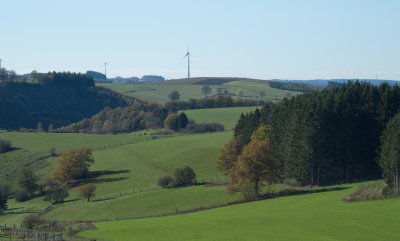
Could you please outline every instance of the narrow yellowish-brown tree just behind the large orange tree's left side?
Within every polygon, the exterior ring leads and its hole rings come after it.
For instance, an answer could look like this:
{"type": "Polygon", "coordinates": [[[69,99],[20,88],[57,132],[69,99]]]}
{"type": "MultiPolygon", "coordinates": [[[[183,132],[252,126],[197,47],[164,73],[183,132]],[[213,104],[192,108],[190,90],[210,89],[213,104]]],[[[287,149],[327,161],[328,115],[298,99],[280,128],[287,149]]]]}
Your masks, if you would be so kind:
{"type": "Polygon", "coordinates": [[[239,140],[232,138],[219,152],[217,170],[228,175],[231,168],[235,165],[241,149],[242,145],[240,145],[239,140]]]}

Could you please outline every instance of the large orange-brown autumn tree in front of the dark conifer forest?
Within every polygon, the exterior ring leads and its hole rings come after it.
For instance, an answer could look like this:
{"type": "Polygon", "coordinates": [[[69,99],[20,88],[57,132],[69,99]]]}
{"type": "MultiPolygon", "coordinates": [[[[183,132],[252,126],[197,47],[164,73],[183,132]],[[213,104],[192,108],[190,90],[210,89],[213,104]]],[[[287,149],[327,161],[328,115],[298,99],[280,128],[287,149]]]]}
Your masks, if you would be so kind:
{"type": "Polygon", "coordinates": [[[228,191],[241,191],[252,186],[254,195],[259,193],[260,183],[269,186],[279,180],[282,164],[274,150],[266,141],[251,141],[238,156],[229,172],[228,191]]]}

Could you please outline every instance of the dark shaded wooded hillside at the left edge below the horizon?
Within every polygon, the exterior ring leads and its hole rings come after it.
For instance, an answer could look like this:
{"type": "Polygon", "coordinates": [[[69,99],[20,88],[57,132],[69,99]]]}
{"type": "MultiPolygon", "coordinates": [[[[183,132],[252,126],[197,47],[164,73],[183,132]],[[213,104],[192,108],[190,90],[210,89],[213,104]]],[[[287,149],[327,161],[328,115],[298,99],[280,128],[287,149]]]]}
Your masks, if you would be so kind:
{"type": "Polygon", "coordinates": [[[47,130],[50,125],[57,128],[91,117],[105,107],[133,102],[111,90],[89,87],[92,80],[85,77],[57,76],[46,77],[41,84],[0,83],[0,128],[32,129],[41,123],[47,130]]]}

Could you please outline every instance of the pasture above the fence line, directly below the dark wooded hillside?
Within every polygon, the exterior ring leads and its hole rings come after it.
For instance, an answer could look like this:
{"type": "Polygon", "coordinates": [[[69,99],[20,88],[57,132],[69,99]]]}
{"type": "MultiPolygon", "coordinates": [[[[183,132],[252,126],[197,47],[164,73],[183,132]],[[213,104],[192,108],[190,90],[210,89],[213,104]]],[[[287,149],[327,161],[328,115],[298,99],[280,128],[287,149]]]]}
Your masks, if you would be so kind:
{"type": "Polygon", "coordinates": [[[42,177],[47,176],[53,167],[55,158],[37,160],[48,155],[54,147],[56,152],[64,152],[72,148],[87,146],[90,148],[109,147],[123,143],[139,142],[150,139],[151,136],[136,132],[126,135],[93,135],[69,133],[26,133],[0,131],[0,139],[9,140],[14,151],[0,154],[2,168],[0,181],[14,184],[18,171],[26,164],[32,165],[42,177]]]}

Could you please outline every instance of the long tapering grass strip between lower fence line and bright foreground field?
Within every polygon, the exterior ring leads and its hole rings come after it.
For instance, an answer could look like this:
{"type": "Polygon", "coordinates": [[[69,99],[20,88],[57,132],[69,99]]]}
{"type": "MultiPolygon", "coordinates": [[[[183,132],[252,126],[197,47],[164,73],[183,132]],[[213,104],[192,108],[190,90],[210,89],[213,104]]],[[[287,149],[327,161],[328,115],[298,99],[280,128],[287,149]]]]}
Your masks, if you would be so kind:
{"type": "Polygon", "coordinates": [[[239,195],[227,195],[222,186],[161,189],[101,202],[67,203],[51,211],[45,218],[69,221],[143,217],[174,213],[177,210],[210,207],[235,201],[238,198],[239,195]]]}

